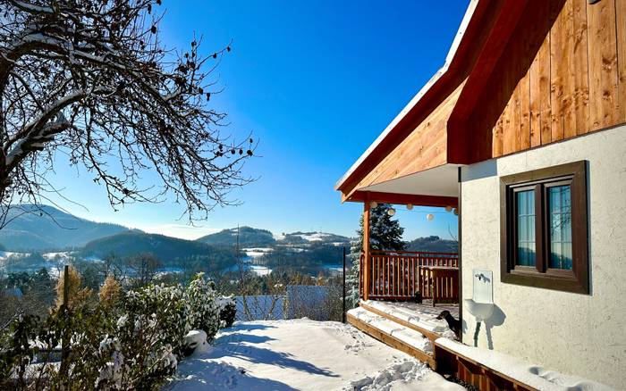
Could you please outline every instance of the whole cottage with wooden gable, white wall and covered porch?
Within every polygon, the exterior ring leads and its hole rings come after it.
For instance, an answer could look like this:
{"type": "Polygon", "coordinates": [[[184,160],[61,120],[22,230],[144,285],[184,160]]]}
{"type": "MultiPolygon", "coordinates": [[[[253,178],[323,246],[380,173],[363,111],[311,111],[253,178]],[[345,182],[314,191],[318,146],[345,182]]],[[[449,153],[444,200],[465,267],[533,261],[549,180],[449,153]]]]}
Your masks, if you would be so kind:
{"type": "Polygon", "coordinates": [[[471,1],[444,67],[336,189],[364,205],[352,323],[482,389],[541,388],[436,343],[397,304],[419,293],[459,303],[464,345],[624,387],[626,0],[471,1]],[[374,203],[455,208],[460,253],[370,251],[374,203]]]}

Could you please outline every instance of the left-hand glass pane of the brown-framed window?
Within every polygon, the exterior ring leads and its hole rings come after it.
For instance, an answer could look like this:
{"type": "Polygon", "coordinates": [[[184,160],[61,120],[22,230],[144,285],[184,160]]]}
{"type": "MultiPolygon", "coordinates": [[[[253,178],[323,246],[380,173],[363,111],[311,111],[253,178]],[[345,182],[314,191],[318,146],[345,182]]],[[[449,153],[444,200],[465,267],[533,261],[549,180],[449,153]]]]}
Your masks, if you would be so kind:
{"type": "Polygon", "coordinates": [[[517,215],[517,264],[535,266],[535,192],[515,195],[517,215]]]}

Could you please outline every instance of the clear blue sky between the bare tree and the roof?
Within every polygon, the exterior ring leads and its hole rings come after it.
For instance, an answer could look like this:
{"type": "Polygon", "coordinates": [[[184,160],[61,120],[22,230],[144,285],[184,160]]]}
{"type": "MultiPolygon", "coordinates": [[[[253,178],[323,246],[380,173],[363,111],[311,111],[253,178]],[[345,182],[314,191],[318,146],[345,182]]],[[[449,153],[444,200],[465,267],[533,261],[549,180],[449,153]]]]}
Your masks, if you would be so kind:
{"type": "MultiPolygon", "coordinates": [[[[260,143],[245,171],[258,180],[233,192],[244,204],[218,208],[199,227],[182,205],[131,204],[113,212],[104,189],[84,171],[57,165],[68,212],[165,235],[195,238],[248,225],[275,233],[323,230],[353,236],[362,204],[341,204],[334,183],[444,63],[468,1],[288,2],[165,1],[160,29],[168,47],[187,48],[193,33],[204,53],[233,39],[216,71],[227,131],[260,143]]],[[[426,208],[397,216],[410,239],[449,238],[457,221],[426,208]]]]}

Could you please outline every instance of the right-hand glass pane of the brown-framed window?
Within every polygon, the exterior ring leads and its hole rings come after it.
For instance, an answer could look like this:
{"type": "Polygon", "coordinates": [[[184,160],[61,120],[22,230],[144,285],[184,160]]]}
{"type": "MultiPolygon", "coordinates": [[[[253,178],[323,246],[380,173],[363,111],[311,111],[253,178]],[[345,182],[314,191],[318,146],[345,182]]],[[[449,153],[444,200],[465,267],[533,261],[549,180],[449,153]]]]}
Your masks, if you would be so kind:
{"type": "Polygon", "coordinates": [[[571,187],[548,188],[550,262],[552,269],[571,270],[571,187]]]}

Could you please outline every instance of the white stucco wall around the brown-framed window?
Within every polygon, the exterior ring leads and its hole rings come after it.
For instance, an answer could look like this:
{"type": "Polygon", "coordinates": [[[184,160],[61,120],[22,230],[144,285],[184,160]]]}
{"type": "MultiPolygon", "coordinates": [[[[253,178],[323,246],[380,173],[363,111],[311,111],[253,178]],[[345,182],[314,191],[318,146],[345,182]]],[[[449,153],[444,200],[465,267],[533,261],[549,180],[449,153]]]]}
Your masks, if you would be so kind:
{"type": "MultiPolygon", "coordinates": [[[[626,387],[626,126],[464,167],[461,229],[463,298],[471,298],[473,269],[494,272],[497,309],[478,346],[626,387]],[[499,177],[579,160],[588,161],[591,294],[503,284],[499,177]]],[[[464,308],[465,344],[475,331],[464,308]]]]}

